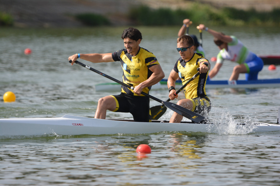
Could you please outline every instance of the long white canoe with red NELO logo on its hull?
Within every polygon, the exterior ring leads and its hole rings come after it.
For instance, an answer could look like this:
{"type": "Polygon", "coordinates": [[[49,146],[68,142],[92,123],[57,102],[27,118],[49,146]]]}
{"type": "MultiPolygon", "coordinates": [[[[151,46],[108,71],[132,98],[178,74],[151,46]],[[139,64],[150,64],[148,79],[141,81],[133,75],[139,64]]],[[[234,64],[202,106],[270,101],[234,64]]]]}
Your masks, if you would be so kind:
{"type": "MultiPolygon", "coordinates": [[[[280,131],[280,124],[234,124],[250,132],[280,131]]],[[[103,135],[150,134],[162,131],[216,133],[217,124],[167,123],[160,121],[133,122],[125,120],[95,119],[65,115],[56,118],[7,118],[0,119],[0,136],[11,135],[103,135]]]]}

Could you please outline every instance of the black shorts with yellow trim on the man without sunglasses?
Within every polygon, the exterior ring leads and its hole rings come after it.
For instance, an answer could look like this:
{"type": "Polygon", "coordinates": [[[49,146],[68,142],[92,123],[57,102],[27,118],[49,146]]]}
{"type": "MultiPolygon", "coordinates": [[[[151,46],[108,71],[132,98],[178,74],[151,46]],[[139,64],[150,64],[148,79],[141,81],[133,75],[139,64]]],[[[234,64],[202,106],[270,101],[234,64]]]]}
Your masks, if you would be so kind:
{"type": "Polygon", "coordinates": [[[150,98],[147,96],[135,96],[121,93],[111,95],[116,101],[116,109],[113,112],[131,113],[135,122],[151,122],[150,98]]]}

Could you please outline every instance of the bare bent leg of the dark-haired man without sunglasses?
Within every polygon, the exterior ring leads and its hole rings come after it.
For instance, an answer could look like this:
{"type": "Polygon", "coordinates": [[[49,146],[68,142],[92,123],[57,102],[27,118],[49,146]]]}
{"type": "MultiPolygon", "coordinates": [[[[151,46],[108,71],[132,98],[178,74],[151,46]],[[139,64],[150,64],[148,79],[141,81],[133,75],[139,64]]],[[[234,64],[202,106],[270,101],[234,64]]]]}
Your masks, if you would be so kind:
{"type": "Polygon", "coordinates": [[[105,119],[106,111],[107,110],[113,111],[115,108],[116,108],[116,101],[112,96],[108,95],[103,98],[100,98],[98,100],[98,105],[94,118],[105,119]]]}

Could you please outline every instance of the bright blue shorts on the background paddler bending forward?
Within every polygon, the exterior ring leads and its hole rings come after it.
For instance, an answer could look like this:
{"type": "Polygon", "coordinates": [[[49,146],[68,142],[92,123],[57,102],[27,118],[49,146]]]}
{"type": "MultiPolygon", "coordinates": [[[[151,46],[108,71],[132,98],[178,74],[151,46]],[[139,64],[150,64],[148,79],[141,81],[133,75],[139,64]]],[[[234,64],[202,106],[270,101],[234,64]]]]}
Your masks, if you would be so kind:
{"type": "Polygon", "coordinates": [[[258,73],[264,67],[264,62],[258,56],[255,56],[253,60],[244,63],[249,73],[245,73],[246,80],[257,80],[258,73]]]}

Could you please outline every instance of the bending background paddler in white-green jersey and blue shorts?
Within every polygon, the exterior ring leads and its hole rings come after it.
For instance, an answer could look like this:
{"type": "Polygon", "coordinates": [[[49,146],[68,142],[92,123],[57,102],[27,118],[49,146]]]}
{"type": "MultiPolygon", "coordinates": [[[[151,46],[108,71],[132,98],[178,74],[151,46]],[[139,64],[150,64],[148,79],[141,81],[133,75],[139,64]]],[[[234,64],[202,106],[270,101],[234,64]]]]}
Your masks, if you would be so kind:
{"type": "Polygon", "coordinates": [[[204,24],[200,24],[199,29],[204,29],[214,36],[214,42],[220,49],[217,55],[217,62],[209,72],[209,77],[213,78],[222,67],[224,60],[231,60],[238,63],[233,69],[229,80],[237,80],[240,73],[245,73],[246,80],[257,80],[258,73],[263,69],[264,62],[256,54],[248,50],[235,36],[228,36],[221,32],[208,29],[204,24]]]}

